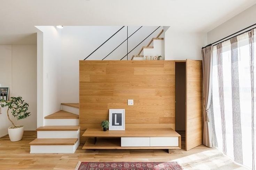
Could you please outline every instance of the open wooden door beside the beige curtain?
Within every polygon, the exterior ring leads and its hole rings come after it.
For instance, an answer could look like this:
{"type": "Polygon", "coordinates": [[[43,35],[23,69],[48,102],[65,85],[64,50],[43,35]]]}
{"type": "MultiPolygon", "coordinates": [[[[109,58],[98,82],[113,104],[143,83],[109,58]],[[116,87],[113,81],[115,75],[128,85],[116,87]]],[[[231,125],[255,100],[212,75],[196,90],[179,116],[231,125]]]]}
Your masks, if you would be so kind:
{"type": "Polygon", "coordinates": [[[186,150],[203,143],[202,61],[186,60],[186,150]]]}

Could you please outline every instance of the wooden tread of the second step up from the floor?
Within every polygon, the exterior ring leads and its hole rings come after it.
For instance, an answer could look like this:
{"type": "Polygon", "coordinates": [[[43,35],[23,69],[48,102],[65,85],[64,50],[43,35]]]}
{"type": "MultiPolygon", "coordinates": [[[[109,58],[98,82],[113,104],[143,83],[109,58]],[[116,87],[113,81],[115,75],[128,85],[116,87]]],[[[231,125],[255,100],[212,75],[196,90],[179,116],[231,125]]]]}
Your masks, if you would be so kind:
{"type": "Polygon", "coordinates": [[[37,131],[77,131],[80,126],[42,126],[37,131]]]}

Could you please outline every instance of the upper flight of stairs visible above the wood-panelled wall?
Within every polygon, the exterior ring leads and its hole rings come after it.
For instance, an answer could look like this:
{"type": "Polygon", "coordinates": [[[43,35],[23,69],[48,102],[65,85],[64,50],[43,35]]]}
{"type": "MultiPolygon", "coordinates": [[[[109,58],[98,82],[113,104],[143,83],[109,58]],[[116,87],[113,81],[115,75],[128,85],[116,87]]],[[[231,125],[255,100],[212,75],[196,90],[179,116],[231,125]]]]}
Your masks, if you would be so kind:
{"type": "MultiPolygon", "coordinates": [[[[159,36],[163,33],[163,29],[161,32],[150,40],[147,46],[142,46],[138,55],[133,55],[132,60],[146,60],[146,56],[164,56],[164,38],[160,38],[159,36]],[[150,46],[153,43],[153,46],[150,46]],[[142,55],[141,55],[142,54],[142,55]]],[[[153,59],[152,59],[153,60],[153,59]]]]}

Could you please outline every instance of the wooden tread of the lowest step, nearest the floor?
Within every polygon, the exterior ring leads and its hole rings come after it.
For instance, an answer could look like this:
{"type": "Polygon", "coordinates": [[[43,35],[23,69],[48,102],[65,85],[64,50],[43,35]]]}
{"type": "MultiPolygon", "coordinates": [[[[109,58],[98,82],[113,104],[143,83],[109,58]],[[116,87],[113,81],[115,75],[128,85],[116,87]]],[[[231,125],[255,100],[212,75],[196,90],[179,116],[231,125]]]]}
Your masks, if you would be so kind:
{"type": "Polygon", "coordinates": [[[30,145],[75,145],[78,138],[41,138],[34,139],[30,145]]]}

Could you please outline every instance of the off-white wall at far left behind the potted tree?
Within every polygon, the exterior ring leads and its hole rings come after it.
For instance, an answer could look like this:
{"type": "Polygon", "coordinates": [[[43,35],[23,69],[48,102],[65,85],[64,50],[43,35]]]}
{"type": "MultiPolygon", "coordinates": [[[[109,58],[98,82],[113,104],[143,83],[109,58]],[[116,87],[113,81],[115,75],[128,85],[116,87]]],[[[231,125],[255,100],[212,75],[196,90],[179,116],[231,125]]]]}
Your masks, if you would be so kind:
{"type": "MultiPolygon", "coordinates": [[[[17,121],[24,125],[25,130],[35,130],[37,127],[37,46],[36,45],[0,45],[0,84],[10,87],[10,96],[22,96],[29,103],[31,116],[17,121]]],[[[0,136],[7,134],[11,125],[6,115],[7,108],[1,108],[0,136]]]]}

